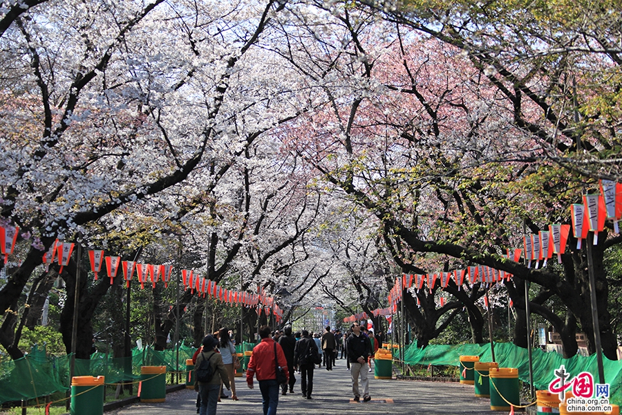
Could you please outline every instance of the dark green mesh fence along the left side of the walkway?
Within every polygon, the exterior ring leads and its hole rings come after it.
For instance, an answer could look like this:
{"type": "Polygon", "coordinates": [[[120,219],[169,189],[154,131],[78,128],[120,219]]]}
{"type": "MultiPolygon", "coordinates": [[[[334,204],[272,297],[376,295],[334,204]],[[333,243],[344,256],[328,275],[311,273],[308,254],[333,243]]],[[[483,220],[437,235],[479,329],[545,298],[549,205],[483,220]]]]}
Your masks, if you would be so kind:
{"type": "MultiPolygon", "coordinates": [[[[179,348],[179,371],[184,372],[186,359],[196,349],[179,348]]],[[[19,360],[0,363],[0,403],[34,399],[59,391],[67,391],[70,357],[46,356],[45,350],[33,349],[19,360]]],[[[166,366],[168,373],[178,369],[177,351],[133,349],[131,358],[113,358],[105,353],[93,353],[90,360],[76,359],[74,376],[105,376],[106,385],[137,380],[142,366],[166,366]]]]}

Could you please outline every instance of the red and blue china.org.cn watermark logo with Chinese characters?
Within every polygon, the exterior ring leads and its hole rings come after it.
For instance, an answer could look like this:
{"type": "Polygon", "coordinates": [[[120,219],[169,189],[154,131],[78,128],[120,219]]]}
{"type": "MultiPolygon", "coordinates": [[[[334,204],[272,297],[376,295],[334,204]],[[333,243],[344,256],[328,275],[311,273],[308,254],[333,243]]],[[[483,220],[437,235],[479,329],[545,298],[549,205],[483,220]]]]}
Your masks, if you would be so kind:
{"type": "Polygon", "coordinates": [[[572,377],[564,365],[554,372],[554,379],[549,383],[549,392],[558,394],[565,402],[566,391],[572,390],[572,398],[566,402],[567,412],[607,412],[612,410],[609,403],[609,384],[594,383],[594,376],[581,372],[572,377]]]}

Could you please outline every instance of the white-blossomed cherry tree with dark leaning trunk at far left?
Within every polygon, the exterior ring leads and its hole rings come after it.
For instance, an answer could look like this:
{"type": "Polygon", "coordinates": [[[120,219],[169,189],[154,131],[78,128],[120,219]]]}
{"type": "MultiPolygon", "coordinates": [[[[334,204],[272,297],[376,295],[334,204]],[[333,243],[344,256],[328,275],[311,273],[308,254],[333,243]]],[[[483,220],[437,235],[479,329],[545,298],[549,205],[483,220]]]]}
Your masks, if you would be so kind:
{"type": "Polygon", "coordinates": [[[102,226],[127,228],[137,207],[171,209],[180,191],[214,188],[245,146],[299,111],[291,94],[279,99],[279,85],[243,75],[255,73],[245,55],[282,5],[161,3],[49,3],[5,34],[5,57],[26,62],[19,70],[28,73],[6,100],[21,93],[37,116],[12,114],[3,145],[2,216],[35,238],[0,291],[3,314],[17,308],[54,239],[79,231],[88,245],[102,226]],[[19,116],[37,120],[26,147],[19,116]]]}

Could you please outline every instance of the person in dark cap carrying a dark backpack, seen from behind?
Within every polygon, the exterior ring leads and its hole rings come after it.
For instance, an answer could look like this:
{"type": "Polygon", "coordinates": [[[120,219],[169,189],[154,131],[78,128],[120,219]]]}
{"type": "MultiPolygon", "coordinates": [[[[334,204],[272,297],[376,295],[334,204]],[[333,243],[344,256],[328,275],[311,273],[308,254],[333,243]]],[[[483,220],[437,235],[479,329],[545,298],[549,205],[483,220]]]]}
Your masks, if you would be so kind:
{"type": "Polygon", "coordinates": [[[229,389],[229,376],[227,369],[223,363],[223,356],[214,350],[218,346],[218,340],[213,335],[208,334],[202,341],[203,349],[196,358],[196,368],[198,369],[203,360],[208,360],[209,365],[214,373],[209,382],[199,382],[198,391],[201,396],[200,415],[216,415],[216,405],[218,405],[218,396],[220,391],[220,381],[225,383],[229,389]]]}

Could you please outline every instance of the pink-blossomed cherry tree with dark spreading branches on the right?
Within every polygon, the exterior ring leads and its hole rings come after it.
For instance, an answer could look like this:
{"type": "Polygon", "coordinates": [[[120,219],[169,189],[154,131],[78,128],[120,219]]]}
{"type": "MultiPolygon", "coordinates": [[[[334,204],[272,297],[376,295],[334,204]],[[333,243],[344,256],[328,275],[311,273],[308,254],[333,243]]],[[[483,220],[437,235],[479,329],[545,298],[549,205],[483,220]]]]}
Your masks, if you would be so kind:
{"type": "MultiPolygon", "coordinates": [[[[570,203],[580,197],[580,192],[573,194],[576,183],[590,186],[585,172],[573,169],[568,174],[552,156],[552,144],[557,145],[556,151],[565,151],[576,142],[560,138],[555,131],[571,133],[574,127],[557,124],[552,129],[550,124],[556,124],[559,111],[545,111],[541,118],[547,105],[538,98],[539,92],[534,93],[540,89],[533,71],[521,72],[525,67],[520,62],[512,73],[504,72],[489,62],[495,55],[473,53],[458,40],[449,42],[451,30],[461,28],[451,18],[446,21],[455,26],[448,29],[448,35],[433,33],[446,27],[438,21],[422,28],[415,14],[400,14],[401,10],[393,13],[389,9],[385,23],[374,27],[374,11],[366,14],[343,3],[326,8],[343,23],[338,30],[346,35],[327,36],[323,44],[348,51],[343,55],[350,58],[350,66],[341,66],[340,82],[351,89],[349,95],[326,89],[330,104],[324,111],[309,114],[305,136],[292,133],[296,137],[292,147],[328,182],[375,213],[388,237],[387,245],[393,246],[405,271],[415,269],[414,253],[446,255],[453,259],[450,269],[484,264],[513,274],[519,287],[525,280],[542,286],[542,299],[536,299],[534,311],[562,333],[566,353],[573,355],[576,322],[585,333],[592,330],[589,297],[584,295],[585,257],[573,252],[563,257],[568,261],[564,270],[554,266],[534,270],[504,255],[505,248],[521,245],[522,234],[567,221],[570,203]],[[385,42],[372,33],[383,33],[385,42]],[[335,38],[346,39],[341,42],[345,46],[331,43],[335,38]],[[517,84],[513,73],[531,77],[517,84]],[[508,85],[511,82],[513,86],[508,85]],[[309,126],[314,127],[312,138],[309,126]],[[538,304],[552,293],[574,318],[560,317],[538,304]]],[[[460,17],[458,10],[456,17],[460,17]]],[[[468,25],[464,27],[469,30],[468,25]]],[[[292,54],[291,59],[296,58],[292,54]]],[[[332,66],[339,63],[330,62],[332,66]]],[[[547,80],[558,76],[547,75],[547,80]]],[[[590,147],[587,142],[581,148],[590,147]]],[[[595,250],[605,250],[612,243],[617,239],[610,238],[595,250]]],[[[596,264],[602,252],[594,254],[596,264]]],[[[601,338],[605,354],[613,356],[607,282],[599,269],[597,265],[601,338]]],[[[509,292],[517,295],[520,288],[509,292]]],[[[594,345],[590,348],[593,351],[594,345]]]]}

